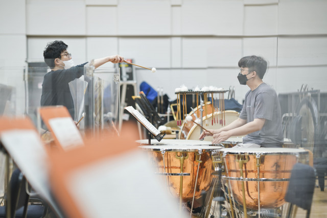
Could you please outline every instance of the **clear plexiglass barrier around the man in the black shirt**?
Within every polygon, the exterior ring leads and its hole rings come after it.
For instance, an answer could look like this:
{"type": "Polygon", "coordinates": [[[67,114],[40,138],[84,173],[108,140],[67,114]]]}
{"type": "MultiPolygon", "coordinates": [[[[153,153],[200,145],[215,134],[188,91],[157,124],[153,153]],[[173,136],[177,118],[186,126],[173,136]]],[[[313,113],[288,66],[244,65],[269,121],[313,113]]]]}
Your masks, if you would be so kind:
{"type": "Polygon", "coordinates": [[[80,121],[81,130],[118,130],[119,68],[87,66],[70,73],[67,77],[47,67],[0,68],[0,115],[26,115],[38,126],[39,107],[63,105],[80,121]]]}

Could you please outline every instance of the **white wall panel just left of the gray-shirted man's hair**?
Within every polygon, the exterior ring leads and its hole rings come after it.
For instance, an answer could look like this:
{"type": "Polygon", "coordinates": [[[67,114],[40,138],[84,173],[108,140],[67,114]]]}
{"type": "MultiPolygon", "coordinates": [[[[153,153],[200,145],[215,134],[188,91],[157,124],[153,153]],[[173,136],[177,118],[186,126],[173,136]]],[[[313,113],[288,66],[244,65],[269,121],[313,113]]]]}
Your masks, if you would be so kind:
{"type": "Polygon", "coordinates": [[[236,66],[242,54],[238,38],[183,38],[183,67],[236,66]]]}

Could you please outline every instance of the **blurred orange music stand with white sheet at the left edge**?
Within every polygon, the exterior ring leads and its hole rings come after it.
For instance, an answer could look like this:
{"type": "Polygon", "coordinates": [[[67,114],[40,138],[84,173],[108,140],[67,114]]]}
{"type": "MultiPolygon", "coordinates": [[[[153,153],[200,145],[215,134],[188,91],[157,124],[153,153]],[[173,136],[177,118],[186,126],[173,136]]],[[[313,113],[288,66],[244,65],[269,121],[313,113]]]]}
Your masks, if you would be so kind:
{"type": "MultiPolygon", "coordinates": [[[[32,121],[24,117],[0,117],[0,141],[7,152],[6,155],[14,160],[31,186],[49,203],[53,211],[60,214],[46,182],[48,179],[46,167],[48,155],[32,121]]],[[[7,178],[9,178],[9,161],[6,165],[7,178]]],[[[7,196],[10,196],[9,192],[8,189],[7,196]]],[[[8,202],[10,204],[10,201],[8,202]]]]}

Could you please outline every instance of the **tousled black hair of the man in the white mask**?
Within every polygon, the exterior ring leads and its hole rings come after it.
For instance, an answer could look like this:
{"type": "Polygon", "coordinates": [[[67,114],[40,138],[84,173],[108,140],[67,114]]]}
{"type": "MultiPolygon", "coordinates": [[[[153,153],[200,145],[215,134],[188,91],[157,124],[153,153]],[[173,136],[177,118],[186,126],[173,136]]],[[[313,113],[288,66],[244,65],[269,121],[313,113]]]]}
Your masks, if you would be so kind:
{"type": "Polygon", "coordinates": [[[60,54],[67,50],[68,45],[63,41],[53,41],[46,44],[45,50],[43,51],[44,62],[50,66],[55,67],[55,59],[60,57],[60,54]]]}

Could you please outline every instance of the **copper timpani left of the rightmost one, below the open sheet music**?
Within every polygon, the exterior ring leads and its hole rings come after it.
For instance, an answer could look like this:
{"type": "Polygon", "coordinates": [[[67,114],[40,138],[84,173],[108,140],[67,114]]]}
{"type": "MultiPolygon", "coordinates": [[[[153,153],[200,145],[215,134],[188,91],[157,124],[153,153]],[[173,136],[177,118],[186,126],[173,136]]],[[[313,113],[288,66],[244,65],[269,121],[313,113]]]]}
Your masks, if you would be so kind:
{"type": "Polygon", "coordinates": [[[179,197],[180,202],[200,198],[201,191],[208,190],[213,172],[211,153],[222,149],[221,146],[187,143],[188,140],[179,140],[179,144],[139,146],[148,151],[156,174],[165,176],[170,192],[179,197]]]}

